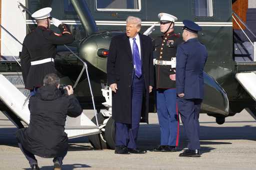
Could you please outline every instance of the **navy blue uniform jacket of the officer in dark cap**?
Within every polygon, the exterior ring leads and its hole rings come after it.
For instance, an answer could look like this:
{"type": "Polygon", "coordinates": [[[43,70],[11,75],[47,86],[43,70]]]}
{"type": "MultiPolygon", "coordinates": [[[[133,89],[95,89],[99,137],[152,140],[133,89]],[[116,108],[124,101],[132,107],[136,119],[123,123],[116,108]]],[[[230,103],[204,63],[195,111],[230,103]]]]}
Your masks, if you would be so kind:
{"type": "Polygon", "coordinates": [[[176,53],[176,90],[183,99],[203,98],[203,67],[207,59],[206,47],[197,38],[180,44],[176,53]]]}

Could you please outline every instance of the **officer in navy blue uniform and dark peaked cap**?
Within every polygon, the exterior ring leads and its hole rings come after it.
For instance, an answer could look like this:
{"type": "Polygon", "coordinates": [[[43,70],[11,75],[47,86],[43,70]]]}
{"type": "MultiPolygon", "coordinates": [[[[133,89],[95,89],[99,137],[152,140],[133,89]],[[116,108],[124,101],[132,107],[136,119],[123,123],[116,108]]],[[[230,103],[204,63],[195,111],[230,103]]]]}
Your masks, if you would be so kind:
{"type": "Polygon", "coordinates": [[[183,24],[182,37],[185,42],[177,48],[176,90],[178,112],[189,142],[188,150],[179,156],[200,157],[198,118],[203,99],[203,67],[207,51],[197,39],[201,27],[190,20],[184,20],[183,24]]]}

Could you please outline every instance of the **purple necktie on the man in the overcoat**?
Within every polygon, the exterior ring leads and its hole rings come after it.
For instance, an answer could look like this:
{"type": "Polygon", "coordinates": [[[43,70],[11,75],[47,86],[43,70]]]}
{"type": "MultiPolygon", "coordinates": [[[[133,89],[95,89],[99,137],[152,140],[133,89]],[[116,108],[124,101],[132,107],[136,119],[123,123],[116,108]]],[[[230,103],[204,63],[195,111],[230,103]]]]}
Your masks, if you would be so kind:
{"type": "Polygon", "coordinates": [[[132,38],[132,55],[133,55],[133,63],[135,65],[135,75],[139,78],[141,76],[141,65],[140,65],[140,57],[138,52],[138,46],[136,44],[136,38],[132,38]]]}

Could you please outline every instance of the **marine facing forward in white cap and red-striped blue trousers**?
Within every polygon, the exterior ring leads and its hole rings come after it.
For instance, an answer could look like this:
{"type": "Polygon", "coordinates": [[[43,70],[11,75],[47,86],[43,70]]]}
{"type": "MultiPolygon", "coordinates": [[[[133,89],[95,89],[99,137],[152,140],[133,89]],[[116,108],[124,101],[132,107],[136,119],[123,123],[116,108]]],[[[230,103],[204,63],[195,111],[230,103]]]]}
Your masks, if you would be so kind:
{"type": "Polygon", "coordinates": [[[162,36],[155,39],[156,106],[160,125],[160,145],[155,152],[175,152],[179,142],[179,116],[176,109],[175,64],[176,48],[183,42],[174,32],[177,18],[159,13],[162,36]]]}

